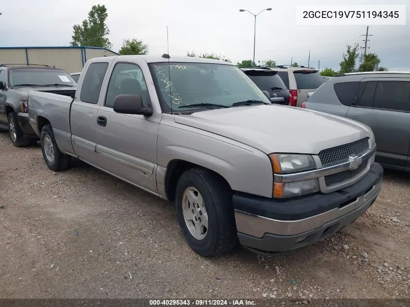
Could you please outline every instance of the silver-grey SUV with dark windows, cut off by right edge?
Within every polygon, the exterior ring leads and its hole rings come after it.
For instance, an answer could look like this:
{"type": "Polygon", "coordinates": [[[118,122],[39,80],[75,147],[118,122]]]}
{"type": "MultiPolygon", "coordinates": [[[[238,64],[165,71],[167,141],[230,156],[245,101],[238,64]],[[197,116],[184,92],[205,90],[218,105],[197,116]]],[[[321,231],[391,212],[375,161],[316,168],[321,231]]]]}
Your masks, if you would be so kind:
{"type": "Polygon", "coordinates": [[[375,134],[376,161],[410,171],[410,72],[340,74],[317,89],[302,108],[366,124],[375,134]]]}

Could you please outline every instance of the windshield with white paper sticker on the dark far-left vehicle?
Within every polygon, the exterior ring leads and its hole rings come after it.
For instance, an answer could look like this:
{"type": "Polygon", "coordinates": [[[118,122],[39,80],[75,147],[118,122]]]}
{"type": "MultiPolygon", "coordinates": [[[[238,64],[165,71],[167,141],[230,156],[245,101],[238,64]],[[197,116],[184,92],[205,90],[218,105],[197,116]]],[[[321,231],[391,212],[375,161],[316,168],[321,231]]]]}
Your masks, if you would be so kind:
{"type": "Polygon", "coordinates": [[[64,70],[18,68],[9,70],[10,86],[33,84],[39,86],[75,86],[77,82],[64,70]]]}

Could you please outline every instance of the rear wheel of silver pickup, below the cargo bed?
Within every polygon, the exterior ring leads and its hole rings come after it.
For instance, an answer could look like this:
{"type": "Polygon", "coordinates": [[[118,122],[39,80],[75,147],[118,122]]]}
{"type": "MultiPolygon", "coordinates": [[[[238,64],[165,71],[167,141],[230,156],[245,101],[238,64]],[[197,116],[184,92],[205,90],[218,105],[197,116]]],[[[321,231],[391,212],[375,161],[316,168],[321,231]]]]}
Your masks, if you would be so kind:
{"type": "Polygon", "coordinates": [[[58,149],[57,143],[55,142],[54,132],[51,128],[51,125],[46,125],[41,129],[40,136],[41,152],[43,153],[44,161],[46,162],[49,169],[53,171],[62,171],[67,169],[70,166],[71,156],[63,154],[60,149],[58,149]],[[52,152],[49,159],[45,150],[45,141],[46,146],[49,145],[49,140],[52,145],[52,152]]]}

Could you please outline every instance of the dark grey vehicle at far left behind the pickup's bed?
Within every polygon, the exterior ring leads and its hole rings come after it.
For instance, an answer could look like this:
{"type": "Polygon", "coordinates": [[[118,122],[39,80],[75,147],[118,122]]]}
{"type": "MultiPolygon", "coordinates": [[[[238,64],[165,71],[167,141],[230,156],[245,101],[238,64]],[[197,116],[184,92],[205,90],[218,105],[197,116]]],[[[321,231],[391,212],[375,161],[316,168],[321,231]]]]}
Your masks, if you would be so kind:
{"type": "Polygon", "coordinates": [[[27,97],[37,90],[74,97],[77,82],[63,69],[47,65],[0,65],[0,129],[13,145],[27,146],[38,137],[30,126],[27,97]]]}

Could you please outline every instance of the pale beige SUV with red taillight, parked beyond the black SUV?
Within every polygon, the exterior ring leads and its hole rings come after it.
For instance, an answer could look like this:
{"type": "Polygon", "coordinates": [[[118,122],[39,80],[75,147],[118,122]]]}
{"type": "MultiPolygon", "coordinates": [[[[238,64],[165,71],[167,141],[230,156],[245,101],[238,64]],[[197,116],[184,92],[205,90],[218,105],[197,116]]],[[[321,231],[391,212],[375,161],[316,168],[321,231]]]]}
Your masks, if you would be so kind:
{"type": "Polygon", "coordinates": [[[278,72],[291,94],[290,106],[301,107],[308,99],[308,93],[314,92],[324,81],[318,70],[304,66],[289,67],[280,65],[268,67],[278,72]]]}

